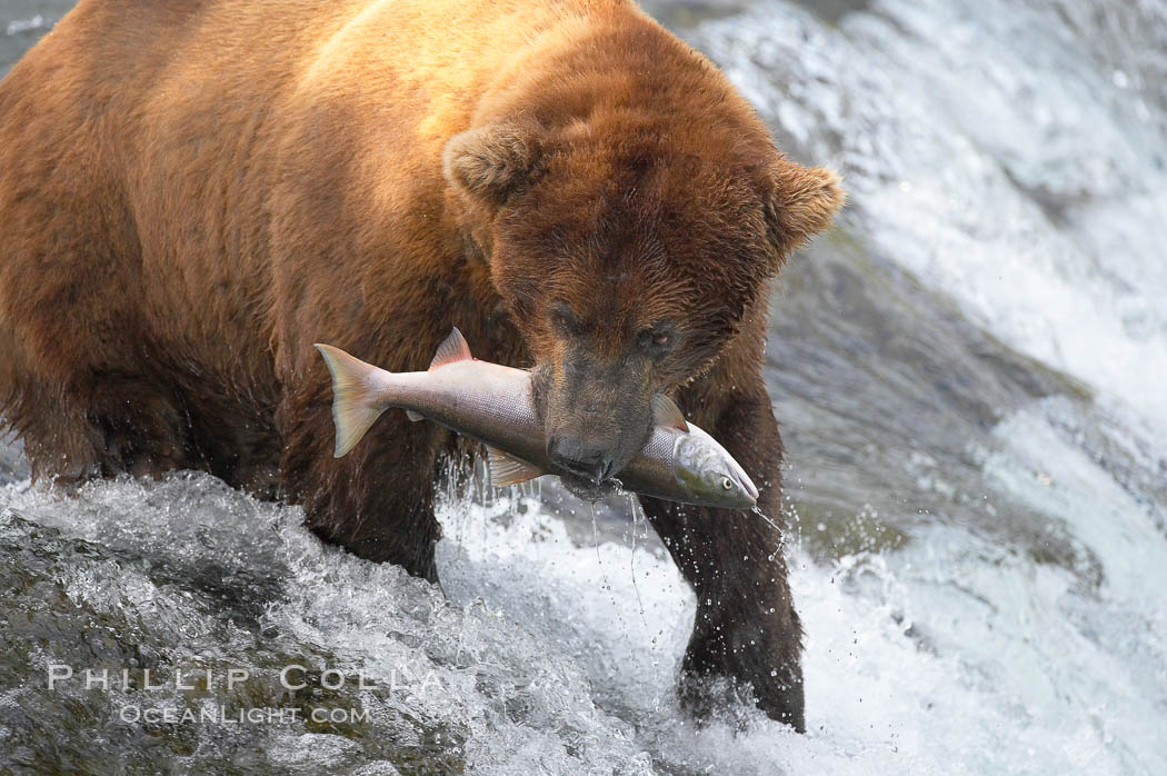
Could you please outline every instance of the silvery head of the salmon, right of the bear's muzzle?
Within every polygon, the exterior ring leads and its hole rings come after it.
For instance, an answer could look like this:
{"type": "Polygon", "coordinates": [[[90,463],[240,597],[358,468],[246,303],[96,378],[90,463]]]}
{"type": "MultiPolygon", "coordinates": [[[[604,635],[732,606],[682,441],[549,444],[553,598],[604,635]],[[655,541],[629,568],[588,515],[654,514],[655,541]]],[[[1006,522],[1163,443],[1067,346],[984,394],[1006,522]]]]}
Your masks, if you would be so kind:
{"type": "Polygon", "coordinates": [[[753,509],[757,504],[757,487],[741,464],[692,424],[689,433],[677,438],[673,474],[693,504],[722,509],[753,509]]]}

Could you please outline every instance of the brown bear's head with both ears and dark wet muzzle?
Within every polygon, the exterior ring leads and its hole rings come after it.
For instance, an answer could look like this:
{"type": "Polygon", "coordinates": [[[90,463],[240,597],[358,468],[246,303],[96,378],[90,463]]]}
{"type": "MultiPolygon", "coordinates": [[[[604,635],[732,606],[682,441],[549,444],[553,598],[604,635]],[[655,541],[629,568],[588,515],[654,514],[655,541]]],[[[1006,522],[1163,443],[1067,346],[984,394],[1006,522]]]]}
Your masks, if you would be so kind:
{"type": "Polygon", "coordinates": [[[640,452],[655,393],[764,316],[768,279],[843,203],[834,173],[789,161],[764,130],[609,118],[497,120],[443,153],[463,230],[534,359],[548,459],[581,495],[640,452]]]}

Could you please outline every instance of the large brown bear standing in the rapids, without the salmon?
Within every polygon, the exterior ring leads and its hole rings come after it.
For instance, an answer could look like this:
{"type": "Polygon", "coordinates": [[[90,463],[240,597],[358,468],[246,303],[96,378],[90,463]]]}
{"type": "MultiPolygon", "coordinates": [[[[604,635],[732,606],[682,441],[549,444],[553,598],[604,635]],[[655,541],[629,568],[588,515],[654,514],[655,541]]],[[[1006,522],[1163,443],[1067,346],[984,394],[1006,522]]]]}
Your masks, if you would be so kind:
{"type": "MultiPolygon", "coordinates": [[[[628,0],[82,0],[0,85],[5,421],[36,477],[207,469],[433,580],[452,434],[334,460],[312,345],[418,370],[457,326],[536,371],[572,488],[665,392],[780,520],[770,281],[841,200],[628,0]]],[[[682,698],[802,729],[780,529],[643,502],[697,594],[682,698]]]]}

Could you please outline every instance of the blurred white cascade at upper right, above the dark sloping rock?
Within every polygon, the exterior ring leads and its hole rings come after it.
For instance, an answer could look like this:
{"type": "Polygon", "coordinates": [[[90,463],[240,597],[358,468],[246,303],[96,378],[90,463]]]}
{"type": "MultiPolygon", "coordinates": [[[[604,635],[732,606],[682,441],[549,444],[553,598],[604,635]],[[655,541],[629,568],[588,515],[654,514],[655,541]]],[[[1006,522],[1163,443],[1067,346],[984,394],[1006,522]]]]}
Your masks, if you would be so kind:
{"type": "Polygon", "coordinates": [[[1165,4],[763,2],[694,37],[890,257],[1167,436],[1165,4]]]}

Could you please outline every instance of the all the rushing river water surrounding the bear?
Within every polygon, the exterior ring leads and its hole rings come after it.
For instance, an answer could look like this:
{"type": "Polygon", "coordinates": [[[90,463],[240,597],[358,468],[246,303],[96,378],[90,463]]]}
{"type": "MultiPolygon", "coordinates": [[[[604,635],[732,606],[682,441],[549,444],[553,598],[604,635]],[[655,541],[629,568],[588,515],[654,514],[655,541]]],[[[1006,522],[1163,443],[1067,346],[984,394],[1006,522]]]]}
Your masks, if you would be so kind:
{"type": "MultiPolygon", "coordinates": [[[[67,7],[0,1],[0,67],[67,7]]],[[[649,8],[852,194],[767,363],[808,735],[692,729],[692,594],[620,499],[450,499],[442,592],[204,475],[64,499],[9,448],[0,771],[1167,769],[1167,5],[649,8]]]]}

